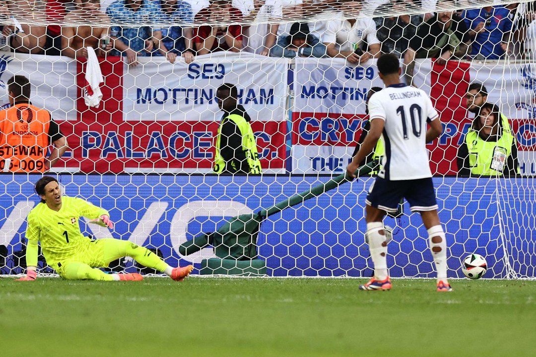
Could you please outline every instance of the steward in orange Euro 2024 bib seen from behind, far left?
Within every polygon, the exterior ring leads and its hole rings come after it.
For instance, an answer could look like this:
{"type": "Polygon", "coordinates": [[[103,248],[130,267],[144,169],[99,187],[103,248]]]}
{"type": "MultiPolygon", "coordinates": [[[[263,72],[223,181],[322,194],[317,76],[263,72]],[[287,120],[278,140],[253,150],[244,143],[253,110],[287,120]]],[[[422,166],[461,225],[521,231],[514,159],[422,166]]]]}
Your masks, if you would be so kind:
{"type": "Polygon", "coordinates": [[[48,171],[67,149],[65,136],[47,110],[29,102],[26,77],[13,76],[8,92],[12,107],[0,111],[0,171],[48,171]],[[51,144],[54,149],[47,158],[51,144]]]}

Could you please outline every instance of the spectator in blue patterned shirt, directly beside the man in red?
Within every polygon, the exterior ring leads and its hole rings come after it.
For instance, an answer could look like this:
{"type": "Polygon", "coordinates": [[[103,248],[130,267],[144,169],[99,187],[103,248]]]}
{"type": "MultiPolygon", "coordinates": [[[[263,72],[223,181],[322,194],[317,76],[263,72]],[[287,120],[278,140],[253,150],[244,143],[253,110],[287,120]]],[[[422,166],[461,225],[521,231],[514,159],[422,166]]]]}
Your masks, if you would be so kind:
{"type": "Polygon", "coordinates": [[[183,57],[184,62],[192,63],[195,55],[192,43],[193,29],[169,26],[172,22],[191,24],[193,22],[191,5],[184,0],[156,0],[156,3],[162,24],[162,40],[156,53],[166,56],[171,63],[175,62],[177,55],[183,57]]]}

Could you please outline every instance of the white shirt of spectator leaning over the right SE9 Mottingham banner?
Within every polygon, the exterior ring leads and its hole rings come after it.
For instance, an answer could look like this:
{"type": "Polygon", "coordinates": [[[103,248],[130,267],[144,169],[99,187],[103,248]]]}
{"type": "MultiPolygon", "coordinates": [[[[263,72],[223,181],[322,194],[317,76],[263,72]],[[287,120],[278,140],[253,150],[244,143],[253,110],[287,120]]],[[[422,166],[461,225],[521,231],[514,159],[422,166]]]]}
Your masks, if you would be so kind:
{"type": "Polygon", "coordinates": [[[348,20],[329,21],[321,42],[334,43],[339,51],[353,51],[363,42],[369,46],[380,43],[376,37],[376,24],[370,18],[357,19],[353,26],[348,20]]]}

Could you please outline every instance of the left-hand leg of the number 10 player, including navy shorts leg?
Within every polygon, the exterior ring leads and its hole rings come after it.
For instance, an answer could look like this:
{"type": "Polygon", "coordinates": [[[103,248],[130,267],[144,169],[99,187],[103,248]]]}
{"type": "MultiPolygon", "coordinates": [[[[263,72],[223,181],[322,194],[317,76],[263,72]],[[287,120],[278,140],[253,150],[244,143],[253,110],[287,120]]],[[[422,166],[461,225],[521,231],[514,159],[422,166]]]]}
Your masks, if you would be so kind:
{"type": "Polygon", "coordinates": [[[395,212],[401,192],[397,184],[382,178],[376,178],[367,195],[366,221],[370,257],[374,263],[374,277],[361,290],[389,290],[391,280],[387,269],[387,240],[383,226],[386,211],[395,212]]]}

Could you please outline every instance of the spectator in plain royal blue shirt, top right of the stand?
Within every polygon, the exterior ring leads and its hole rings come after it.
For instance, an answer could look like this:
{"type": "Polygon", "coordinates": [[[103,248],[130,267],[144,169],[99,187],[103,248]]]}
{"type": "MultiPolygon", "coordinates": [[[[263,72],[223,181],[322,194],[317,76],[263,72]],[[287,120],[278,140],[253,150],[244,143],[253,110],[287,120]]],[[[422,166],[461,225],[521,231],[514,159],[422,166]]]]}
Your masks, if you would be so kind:
{"type": "Polygon", "coordinates": [[[499,59],[512,52],[510,10],[504,6],[487,6],[464,11],[463,18],[472,41],[475,59],[499,59]]]}

